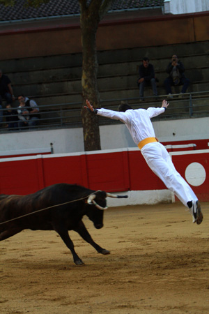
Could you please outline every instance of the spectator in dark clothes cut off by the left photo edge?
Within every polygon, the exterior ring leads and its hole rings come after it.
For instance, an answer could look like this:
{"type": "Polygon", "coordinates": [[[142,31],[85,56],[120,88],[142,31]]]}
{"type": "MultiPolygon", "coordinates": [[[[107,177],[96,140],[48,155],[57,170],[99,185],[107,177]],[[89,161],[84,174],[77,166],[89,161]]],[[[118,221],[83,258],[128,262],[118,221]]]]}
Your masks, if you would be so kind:
{"type": "Polygon", "coordinates": [[[12,103],[15,100],[13,95],[13,88],[8,76],[2,73],[0,70],[0,105],[2,105],[2,98],[6,99],[6,103],[12,103]]]}

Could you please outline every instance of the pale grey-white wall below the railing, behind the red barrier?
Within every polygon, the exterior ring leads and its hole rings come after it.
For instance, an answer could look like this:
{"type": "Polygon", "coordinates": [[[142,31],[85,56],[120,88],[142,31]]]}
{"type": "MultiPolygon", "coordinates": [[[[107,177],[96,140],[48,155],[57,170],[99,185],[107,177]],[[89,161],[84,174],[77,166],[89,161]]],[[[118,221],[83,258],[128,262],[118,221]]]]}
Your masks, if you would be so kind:
{"type": "MultiPolygon", "coordinates": [[[[153,122],[160,142],[208,139],[209,117],[153,122]]],[[[101,126],[102,149],[136,147],[123,124],[101,126]]],[[[21,133],[1,133],[0,153],[20,149],[40,149],[53,143],[54,154],[84,151],[82,128],[56,129],[21,133]]]]}

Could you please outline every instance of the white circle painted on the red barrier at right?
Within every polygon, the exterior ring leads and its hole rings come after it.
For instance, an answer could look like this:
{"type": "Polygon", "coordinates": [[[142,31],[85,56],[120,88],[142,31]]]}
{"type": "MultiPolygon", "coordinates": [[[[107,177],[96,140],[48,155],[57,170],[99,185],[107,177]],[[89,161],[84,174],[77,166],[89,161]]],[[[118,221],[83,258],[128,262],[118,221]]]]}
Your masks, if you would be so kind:
{"type": "Polygon", "coordinates": [[[206,170],[201,163],[190,163],[185,170],[185,178],[192,186],[201,186],[206,180],[206,170]]]}

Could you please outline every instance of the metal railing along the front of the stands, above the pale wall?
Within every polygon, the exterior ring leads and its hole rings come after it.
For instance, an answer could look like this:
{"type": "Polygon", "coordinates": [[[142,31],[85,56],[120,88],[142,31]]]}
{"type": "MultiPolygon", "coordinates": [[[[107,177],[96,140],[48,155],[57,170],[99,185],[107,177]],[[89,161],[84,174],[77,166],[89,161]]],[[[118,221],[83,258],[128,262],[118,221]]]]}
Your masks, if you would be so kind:
{"type": "MultiPolygon", "coordinates": [[[[165,119],[189,119],[194,117],[209,116],[209,91],[187,93],[183,98],[179,98],[180,94],[173,94],[172,98],[167,95],[153,97],[144,97],[144,101],[140,102],[139,98],[120,98],[101,100],[101,107],[111,110],[117,110],[122,100],[127,101],[133,109],[139,107],[147,109],[148,107],[160,107],[163,99],[167,99],[170,103],[168,110],[153,119],[153,121],[165,119]]],[[[54,105],[41,105],[40,119],[35,126],[20,126],[18,114],[6,116],[7,109],[0,110],[0,133],[22,132],[29,130],[47,130],[52,128],[75,128],[82,127],[82,110],[83,103],[60,103],[54,105]],[[2,117],[2,119],[1,119],[2,117]],[[10,117],[10,118],[8,118],[10,117]],[[8,121],[10,119],[10,121],[8,121]]],[[[17,110],[13,107],[12,110],[17,110]]],[[[33,114],[31,114],[33,117],[33,114]]],[[[120,121],[99,117],[100,125],[117,124],[120,121]]]]}

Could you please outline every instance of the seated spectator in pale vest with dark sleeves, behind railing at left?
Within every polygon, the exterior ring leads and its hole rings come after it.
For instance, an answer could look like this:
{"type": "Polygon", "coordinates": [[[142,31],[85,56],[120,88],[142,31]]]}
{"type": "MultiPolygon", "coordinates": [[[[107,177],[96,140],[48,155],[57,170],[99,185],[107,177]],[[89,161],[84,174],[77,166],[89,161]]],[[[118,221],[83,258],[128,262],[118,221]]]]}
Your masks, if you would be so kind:
{"type": "Polygon", "coordinates": [[[20,106],[17,107],[18,112],[18,126],[22,127],[33,127],[39,124],[40,114],[36,101],[31,100],[24,95],[19,95],[17,99],[20,102],[20,106]]]}

